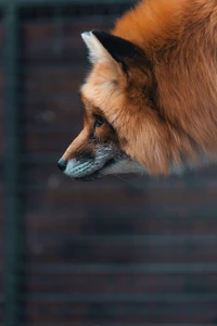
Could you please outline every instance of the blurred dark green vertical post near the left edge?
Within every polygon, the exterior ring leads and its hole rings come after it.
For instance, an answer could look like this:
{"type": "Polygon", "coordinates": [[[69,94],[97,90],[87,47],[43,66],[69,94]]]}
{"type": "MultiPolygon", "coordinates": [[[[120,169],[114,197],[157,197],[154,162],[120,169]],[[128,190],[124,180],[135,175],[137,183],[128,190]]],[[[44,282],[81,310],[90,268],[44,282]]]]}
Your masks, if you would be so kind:
{"type": "MultiPolygon", "coordinates": [[[[5,2],[7,3],[7,2],[5,2]]],[[[18,325],[18,76],[17,30],[15,2],[4,8],[4,326],[18,325]]]]}

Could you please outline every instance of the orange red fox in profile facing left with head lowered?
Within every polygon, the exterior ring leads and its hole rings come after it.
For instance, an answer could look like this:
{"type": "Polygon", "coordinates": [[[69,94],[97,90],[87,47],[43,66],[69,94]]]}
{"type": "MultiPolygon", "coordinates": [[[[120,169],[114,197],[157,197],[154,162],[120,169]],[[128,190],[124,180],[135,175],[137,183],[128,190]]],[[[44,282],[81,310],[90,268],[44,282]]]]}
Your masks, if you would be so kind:
{"type": "Polygon", "coordinates": [[[91,72],[68,176],[168,175],[215,162],[217,0],[143,0],[110,33],[81,34],[91,72]]]}

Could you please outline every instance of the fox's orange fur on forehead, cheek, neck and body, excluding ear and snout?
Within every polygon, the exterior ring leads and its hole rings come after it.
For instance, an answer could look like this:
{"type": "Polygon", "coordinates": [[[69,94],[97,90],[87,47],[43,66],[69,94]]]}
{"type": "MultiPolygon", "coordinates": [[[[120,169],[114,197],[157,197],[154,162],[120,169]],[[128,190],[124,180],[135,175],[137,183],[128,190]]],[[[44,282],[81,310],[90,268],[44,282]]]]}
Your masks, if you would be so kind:
{"type": "Polygon", "coordinates": [[[106,58],[94,63],[81,88],[114,126],[122,150],[151,174],[197,164],[201,155],[215,160],[217,1],[145,0],[124,14],[112,34],[140,47],[153,66],[151,72],[142,60],[131,64],[126,80],[119,64],[106,58]]]}

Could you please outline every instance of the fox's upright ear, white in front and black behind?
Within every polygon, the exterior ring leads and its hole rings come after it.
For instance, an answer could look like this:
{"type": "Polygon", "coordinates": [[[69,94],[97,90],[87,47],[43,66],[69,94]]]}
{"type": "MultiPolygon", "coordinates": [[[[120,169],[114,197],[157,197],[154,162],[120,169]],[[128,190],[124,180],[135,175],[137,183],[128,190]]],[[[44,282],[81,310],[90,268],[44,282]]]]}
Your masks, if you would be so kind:
{"type": "Polygon", "coordinates": [[[112,34],[92,30],[85,32],[81,37],[89,49],[92,63],[111,59],[125,64],[129,59],[137,59],[142,50],[132,42],[112,34]]]}

